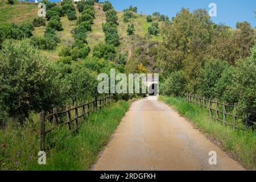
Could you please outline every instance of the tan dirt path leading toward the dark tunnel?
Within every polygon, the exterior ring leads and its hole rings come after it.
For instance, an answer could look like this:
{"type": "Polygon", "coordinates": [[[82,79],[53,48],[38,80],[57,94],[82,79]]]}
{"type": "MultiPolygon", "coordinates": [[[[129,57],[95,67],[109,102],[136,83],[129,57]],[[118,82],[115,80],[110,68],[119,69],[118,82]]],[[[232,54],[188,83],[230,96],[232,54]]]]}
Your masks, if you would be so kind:
{"type": "Polygon", "coordinates": [[[131,105],[94,170],[244,170],[166,104],[131,105]],[[217,165],[209,165],[210,151],[217,165]]]}

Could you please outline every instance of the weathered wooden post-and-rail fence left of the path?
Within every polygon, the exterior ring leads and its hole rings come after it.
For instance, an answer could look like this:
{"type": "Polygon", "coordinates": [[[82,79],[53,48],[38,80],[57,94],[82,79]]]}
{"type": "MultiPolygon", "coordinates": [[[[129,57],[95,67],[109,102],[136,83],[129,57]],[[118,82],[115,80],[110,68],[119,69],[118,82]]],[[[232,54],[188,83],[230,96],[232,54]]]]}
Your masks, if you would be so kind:
{"type": "Polygon", "coordinates": [[[52,113],[48,115],[46,115],[45,111],[42,111],[40,113],[40,150],[44,151],[45,137],[47,133],[62,125],[67,125],[68,129],[72,132],[78,132],[80,127],[80,118],[82,118],[82,121],[85,121],[86,117],[88,117],[90,113],[105,107],[112,101],[113,95],[109,95],[106,97],[96,98],[91,102],[86,101],[85,104],[82,102],[80,106],[77,106],[77,104],[75,104],[72,108],[71,106],[67,106],[66,110],[64,111],[58,111],[57,108],[53,108],[52,113]],[[54,126],[48,130],[46,130],[47,120],[54,124],[54,126]],[[73,129],[72,123],[74,123],[73,129]]]}

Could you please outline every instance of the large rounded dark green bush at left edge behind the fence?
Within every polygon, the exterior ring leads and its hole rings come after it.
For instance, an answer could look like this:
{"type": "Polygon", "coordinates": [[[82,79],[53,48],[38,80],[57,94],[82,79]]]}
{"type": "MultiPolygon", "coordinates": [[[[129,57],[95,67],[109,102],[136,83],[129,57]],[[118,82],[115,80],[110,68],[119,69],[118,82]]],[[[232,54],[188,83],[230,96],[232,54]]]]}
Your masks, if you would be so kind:
{"type": "Polygon", "coordinates": [[[51,109],[58,102],[54,74],[46,58],[27,40],[7,41],[0,51],[1,107],[10,117],[20,119],[32,110],[51,109]]]}

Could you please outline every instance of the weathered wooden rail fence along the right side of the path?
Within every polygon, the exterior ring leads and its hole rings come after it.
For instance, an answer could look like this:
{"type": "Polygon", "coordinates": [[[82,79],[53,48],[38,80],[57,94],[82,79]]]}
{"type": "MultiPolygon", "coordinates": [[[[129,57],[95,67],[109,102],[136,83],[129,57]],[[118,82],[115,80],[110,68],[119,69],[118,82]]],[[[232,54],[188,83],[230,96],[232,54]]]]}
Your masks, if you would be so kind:
{"type": "Polygon", "coordinates": [[[232,126],[233,128],[242,129],[243,121],[245,122],[246,128],[250,125],[256,126],[256,122],[250,121],[247,114],[245,117],[236,115],[237,104],[228,105],[226,102],[220,103],[211,98],[206,99],[205,97],[196,96],[195,94],[185,94],[185,101],[208,109],[211,118],[225,125],[232,126]],[[238,122],[239,120],[241,122],[238,122]]]}

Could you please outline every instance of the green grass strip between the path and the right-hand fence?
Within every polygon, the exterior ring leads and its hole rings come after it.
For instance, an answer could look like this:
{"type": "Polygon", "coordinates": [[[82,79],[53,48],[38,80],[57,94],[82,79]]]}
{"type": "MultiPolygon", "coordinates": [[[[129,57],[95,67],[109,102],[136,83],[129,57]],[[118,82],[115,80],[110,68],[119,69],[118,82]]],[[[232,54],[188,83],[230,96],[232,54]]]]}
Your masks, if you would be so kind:
{"type": "Polygon", "coordinates": [[[256,131],[234,130],[215,122],[209,117],[208,110],[183,99],[159,96],[159,100],[177,110],[202,133],[216,139],[224,151],[237,158],[247,169],[256,169],[256,131]]]}

